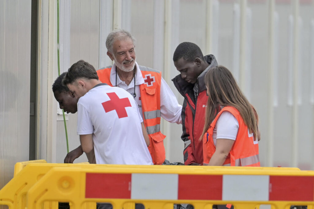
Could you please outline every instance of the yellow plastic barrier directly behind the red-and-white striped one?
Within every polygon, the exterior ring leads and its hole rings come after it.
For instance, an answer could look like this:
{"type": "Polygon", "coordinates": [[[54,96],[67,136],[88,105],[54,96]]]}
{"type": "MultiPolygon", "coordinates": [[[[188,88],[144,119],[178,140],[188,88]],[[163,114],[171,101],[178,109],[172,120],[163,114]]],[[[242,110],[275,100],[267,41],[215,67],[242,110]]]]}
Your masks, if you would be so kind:
{"type": "MultiPolygon", "coordinates": [[[[124,167],[121,165],[89,165],[89,164],[57,164],[57,163],[45,163],[46,161],[37,161],[40,163],[32,163],[34,161],[27,161],[27,162],[21,162],[17,163],[15,167],[15,177],[5,186],[3,187],[2,190],[0,190],[0,204],[3,205],[8,205],[10,208],[25,208],[26,206],[26,193],[30,190],[30,188],[37,184],[37,181],[40,180],[45,174],[53,167],[61,167],[61,168],[79,168],[80,170],[85,169],[92,169],[92,170],[103,170],[103,169],[110,169],[116,168],[118,170],[125,170],[127,169],[127,172],[131,172],[130,170],[132,169],[138,169],[139,166],[127,166],[124,167]],[[27,165],[27,166],[26,166],[27,165]],[[26,166],[26,167],[25,167],[26,166]],[[25,167],[25,169],[23,169],[25,167]],[[22,170],[23,169],[23,170],[22,170]],[[17,171],[17,172],[16,172],[17,171]]],[[[195,168],[198,170],[207,170],[207,167],[205,166],[145,166],[145,168],[154,168],[154,170],[168,170],[167,167],[175,167],[181,168],[182,171],[189,171],[194,170],[195,168]],[[159,168],[158,168],[159,167],[159,168]],[[194,168],[193,168],[194,167],[194,168]]],[[[220,169],[220,167],[211,167],[211,169],[220,169]]],[[[242,170],[242,172],[246,171],[253,171],[256,170],[257,168],[240,168],[240,167],[232,167],[232,169],[235,170],[242,170]]],[[[298,171],[299,169],[297,168],[258,168],[258,170],[265,170],[265,171],[298,171]]],[[[120,171],[123,173],[123,171],[120,171]]],[[[131,172],[132,173],[132,172],[131,172]]],[[[51,204],[53,208],[56,208],[56,202],[57,201],[62,201],[60,199],[54,199],[52,201],[55,201],[54,203],[49,203],[48,208],[51,208],[51,204]]],[[[66,201],[65,201],[66,202],[66,201]]],[[[72,202],[72,201],[71,201],[72,202]]],[[[86,201],[89,204],[85,204],[84,206],[87,208],[95,208],[95,201],[86,201]]],[[[100,201],[103,202],[103,201],[100,201]]],[[[128,200],[124,201],[124,208],[134,208],[134,201],[128,200]]],[[[181,201],[182,202],[182,201],[181,201]]],[[[45,202],[44,206],[46,208],[47,202],[45,202]]],[[[155,203],[156,205],[157,203],[155,203]]],[[[171,204],[170,204],[171,205],[171,204]]]]}

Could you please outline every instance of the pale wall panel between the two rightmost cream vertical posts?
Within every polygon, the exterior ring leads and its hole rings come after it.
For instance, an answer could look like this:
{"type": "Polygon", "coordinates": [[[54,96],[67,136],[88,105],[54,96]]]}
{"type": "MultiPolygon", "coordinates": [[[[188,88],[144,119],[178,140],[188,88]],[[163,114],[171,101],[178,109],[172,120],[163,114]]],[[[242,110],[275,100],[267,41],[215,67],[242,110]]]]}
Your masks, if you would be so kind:
{"type": "MultiPolygon", "coordinates": [[[[288,103],[288,86],[292,85],[289,79],[289,47],[292,36],[289,27],[289,16],[292,14],[290,4],[277,3],[275,10],[279,15],[279,55],[278,55],[278,105],[274,108],[274,166],[290,166],[290,154],[292,149],[292,104],[288,103]]],[[[292,67],[292,66],[291,66],[292,67]]],[[[291,68],[292,69],[292,68],[291,68]]],[[[292,72],[292,71],[291,71],[292,72]]],[[[292,91],[292,89],[291,89],[292,91]]],[[[291,93],[292,94],[292,93],[291,93]]],[[[266,135],[267,136],[267,135],[266,135]]]]}

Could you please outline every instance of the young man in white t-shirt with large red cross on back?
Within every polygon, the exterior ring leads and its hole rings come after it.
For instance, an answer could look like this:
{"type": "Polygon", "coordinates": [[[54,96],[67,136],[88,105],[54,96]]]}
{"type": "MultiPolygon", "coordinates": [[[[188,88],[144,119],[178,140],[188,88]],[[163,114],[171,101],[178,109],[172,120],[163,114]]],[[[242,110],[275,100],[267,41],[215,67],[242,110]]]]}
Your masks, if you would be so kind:
{"type": "Polygon", "coordinates": [[[77,132],[90,163],[153,164],[143,120],[127,91],[101,83],[84,60],[69,68],[63,84],[78,98],[77,132]]]}

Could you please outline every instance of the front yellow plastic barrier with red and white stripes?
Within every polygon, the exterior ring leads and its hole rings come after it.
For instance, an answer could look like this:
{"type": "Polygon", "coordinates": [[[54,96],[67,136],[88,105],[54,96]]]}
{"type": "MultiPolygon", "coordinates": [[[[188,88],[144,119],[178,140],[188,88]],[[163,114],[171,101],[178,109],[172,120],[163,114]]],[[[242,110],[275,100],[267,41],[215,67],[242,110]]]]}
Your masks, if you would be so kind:
{"type": "Polygon", "coordinates": [[[313,187],[314,172],[295,168],[54,166],[29,189],[27,208],[61,201],[70,202],[71,209],[82,208],[86,202],[110,202],[114,208],[138,202],[150,209],[172,209],[174,203],[189,203],[195,209],[228,203],[235,209],[258,208],[261,204],[276,208],[307,205],[310,209],[313,187]],[[198,194],[193,197],[185,193],[190,190],[198,194]]]}

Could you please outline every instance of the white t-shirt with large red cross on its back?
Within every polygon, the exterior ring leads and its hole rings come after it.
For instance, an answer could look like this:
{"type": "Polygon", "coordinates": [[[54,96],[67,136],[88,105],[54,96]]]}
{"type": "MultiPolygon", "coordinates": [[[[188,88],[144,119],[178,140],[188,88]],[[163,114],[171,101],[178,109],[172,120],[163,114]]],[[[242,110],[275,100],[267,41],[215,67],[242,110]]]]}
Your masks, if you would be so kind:
{"type": "Polygon", "coordinates": [[[133,97],[104,83],[78,100],[78,135],[93,134],[97,164],[152,165],[133,97]]]}

